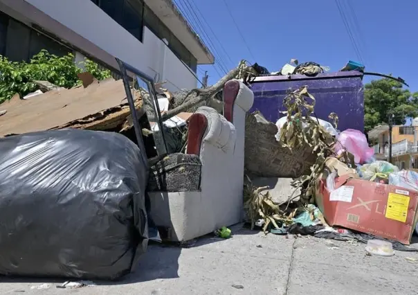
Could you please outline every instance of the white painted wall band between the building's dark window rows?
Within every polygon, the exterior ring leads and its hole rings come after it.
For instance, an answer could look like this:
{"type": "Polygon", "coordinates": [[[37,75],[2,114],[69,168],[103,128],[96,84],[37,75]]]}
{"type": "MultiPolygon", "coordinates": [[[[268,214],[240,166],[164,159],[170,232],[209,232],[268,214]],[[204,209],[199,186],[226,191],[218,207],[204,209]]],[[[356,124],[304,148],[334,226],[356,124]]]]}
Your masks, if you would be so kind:
{"type": "MultiPolygon", "coordinates": [[[[90,0],[25,0],[114,57],[158,80],[170,91],[197,87],[197,80],[148,28],[143,42],[113,21],[90,0]]],[[[46,28],[48,30],[48,28],[46,28]]]]}

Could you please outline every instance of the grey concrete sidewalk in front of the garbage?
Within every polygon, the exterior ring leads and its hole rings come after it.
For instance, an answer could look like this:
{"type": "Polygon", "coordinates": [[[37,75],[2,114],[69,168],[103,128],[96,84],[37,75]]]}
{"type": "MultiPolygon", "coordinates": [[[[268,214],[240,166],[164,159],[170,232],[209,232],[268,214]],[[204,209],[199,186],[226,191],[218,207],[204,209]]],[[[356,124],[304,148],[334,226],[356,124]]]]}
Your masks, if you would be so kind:
{"type": "Polygon", "coordinates": [[[418,253],[365,256],[365,244],[235,229],[229,240],[151,245],[118,283],[57,289],[64,280],[8,279],[0,294],[418,294],[418,253]],[[407,258],[415,258],[411,261],[407,258]],[[31,289],[48,283],[44,290],[31,289]]]}

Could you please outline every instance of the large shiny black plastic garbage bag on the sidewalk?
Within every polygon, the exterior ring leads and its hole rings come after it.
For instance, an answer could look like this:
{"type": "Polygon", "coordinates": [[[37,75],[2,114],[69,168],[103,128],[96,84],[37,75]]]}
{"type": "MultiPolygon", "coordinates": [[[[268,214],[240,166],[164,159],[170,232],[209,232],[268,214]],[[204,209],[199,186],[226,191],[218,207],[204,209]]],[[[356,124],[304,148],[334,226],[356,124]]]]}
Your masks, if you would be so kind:
{"type": "Polygon", "coordinates": [[[147,164],[128,138],[0,139],[0,275],[116,279],[147,249],[147,164]]]}

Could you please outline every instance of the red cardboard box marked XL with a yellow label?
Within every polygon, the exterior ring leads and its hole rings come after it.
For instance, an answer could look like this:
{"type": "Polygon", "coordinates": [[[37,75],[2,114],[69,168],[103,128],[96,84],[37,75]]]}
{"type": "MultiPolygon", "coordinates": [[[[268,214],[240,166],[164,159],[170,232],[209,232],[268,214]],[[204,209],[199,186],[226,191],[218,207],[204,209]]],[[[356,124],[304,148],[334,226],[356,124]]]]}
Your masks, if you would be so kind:
{"type": "Polygon", "coordinates": [[[336,178],[336,190],[318,179],[316,200],[330,226],[370,233],[410,244],[417,223],[418,192],[345,175],[336,178]]]}

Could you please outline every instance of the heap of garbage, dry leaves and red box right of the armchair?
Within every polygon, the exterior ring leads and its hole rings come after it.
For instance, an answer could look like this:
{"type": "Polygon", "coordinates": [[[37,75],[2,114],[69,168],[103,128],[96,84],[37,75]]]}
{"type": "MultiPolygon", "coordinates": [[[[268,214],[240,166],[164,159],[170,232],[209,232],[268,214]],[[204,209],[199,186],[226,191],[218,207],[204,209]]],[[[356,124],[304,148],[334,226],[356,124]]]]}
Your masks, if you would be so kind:
{"type": "Polygon", "coordinates": [[[244,207],[251,228],[359,242],[379,238],[393,249],[415,251],[405,244],[418,221],[418,173],[375,161],[363,132],[338,131],[337,114],[329,115],[331,123],[316,118],[315,98],[307,87],[289,92],[284,105],[287,116],[275,130],[259,112],[247,118],[246,172],[251,177],[244,207]],[[255,129],[262,141],[254,141],[255,129]],[[280,152],[275,155],[273,148],[280,152]],[[280,169],[273,171],[263,161],[280,163],[280,169]],[[292,167],[300,162],[305,163],[292,167]],[[275,202],[268,186],[251,182],[266,175],[293,178],[295,190],[287,201],[275,202]]]}

